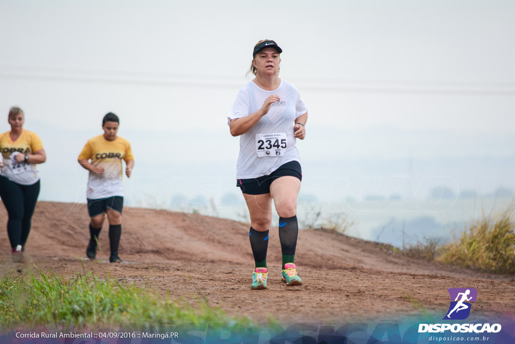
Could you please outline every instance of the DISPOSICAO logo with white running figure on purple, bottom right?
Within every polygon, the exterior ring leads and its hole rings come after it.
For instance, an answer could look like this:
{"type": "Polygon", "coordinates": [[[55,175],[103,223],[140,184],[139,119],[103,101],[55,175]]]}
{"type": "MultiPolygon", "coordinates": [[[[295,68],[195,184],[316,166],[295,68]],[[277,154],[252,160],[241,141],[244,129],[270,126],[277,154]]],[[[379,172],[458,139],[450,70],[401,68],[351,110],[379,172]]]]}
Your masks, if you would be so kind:
{"type": "MultiPolygon", "coordinates": [[[[449,310],[442,320],[464,320],[470,315],[471,302],[476,302],[477,290],[475,288],[449,288],[451,304],[449,310]]],[[[497,333],[501,331],[500,324],[477,323],[477,324],[419,324],[419,333],[423,332],[445,332],[453,333],[497,333]]]]}

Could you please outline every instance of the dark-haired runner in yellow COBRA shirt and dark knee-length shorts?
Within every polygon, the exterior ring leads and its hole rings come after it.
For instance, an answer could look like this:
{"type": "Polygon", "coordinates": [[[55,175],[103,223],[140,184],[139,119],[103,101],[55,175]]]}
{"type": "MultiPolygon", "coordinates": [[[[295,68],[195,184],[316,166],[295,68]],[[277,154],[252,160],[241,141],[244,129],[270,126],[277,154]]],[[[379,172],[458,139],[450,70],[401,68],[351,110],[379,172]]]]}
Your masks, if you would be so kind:
{"type": "Polygon", "coordinates": [[[90,259],[96,258],[98,236],[107,214],[111,263],[123,263],[118,256],[124,203],[122,160],[126,162],[127,177],[134,167],[129,141],[116,135],[118,125],[119,119],[114,113],[106,114],[102,120],[104,134],[88,140],[79,155],[80,165],[90,172],[86,198],[91,237],[86,254],[90,259]]]}

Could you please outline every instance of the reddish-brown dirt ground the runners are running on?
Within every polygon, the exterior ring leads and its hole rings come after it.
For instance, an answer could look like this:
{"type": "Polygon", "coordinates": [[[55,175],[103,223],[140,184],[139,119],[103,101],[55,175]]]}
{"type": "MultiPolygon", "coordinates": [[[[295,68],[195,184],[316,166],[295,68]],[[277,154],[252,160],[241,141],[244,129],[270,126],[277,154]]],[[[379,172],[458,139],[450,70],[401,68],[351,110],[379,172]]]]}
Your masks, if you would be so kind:
{"type": "MultiPolygon", "coordinates": [[[[7,222],[3,205],[0,222],[2,226],[7,222]]],[[[443,317],[451,287],[478,290],[474,314],[515,315],[512,275],[410,259],[380,244],[335,233],[300,231],[295,263],[304,285],[286,287],[281,282],[278,229],[271,228],[268,290],[252,291],[248,224],[126,208],[120,249],[125,264],[119,265],[108,263],[107,221],[100,234],[103,251],[95,261],[86,258],[88,223],[84,205],[39,202],[25,263],[10,263],[10,245],[3,232],[0,268],[5,273],[37,266],[66,275],[93,270],[97,276],[110,275],[121,283],[135,283],[162,295],[205,297],[229,315],[245,314],[255,321],[266,321],[269,315],[283,323],[381,320],[426,311],[443,317]]]]}

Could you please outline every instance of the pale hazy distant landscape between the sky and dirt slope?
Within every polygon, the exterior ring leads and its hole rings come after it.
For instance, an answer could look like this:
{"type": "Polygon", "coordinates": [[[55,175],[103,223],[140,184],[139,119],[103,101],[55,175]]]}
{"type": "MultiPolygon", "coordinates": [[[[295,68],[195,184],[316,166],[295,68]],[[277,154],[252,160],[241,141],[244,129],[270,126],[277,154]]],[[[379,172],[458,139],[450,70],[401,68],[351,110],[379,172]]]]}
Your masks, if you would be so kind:
{"type": "MultiPolygon", "coordinates": [[[[149,200],[146,200],[149,201],[149,200]]],[[[124,211],[171,211],[200,214],[219,218],[231,219],[240,222],[250,222],[244,201],[232,201],[230,204],[217,204],[213,200],[194,199],[195,203],[179,197],[176,201],[181,203],[170,204],[138,204],[128,200],[124,204],[124,211]]],[[[311,202],[303,203],[299,197],[297,217],[299,228],[317,228],[327,225],[347,227],[345,234],[369,241],[391,244],[402,248],[403,244],[410,245],[424,240],[436,240],[438,244],[445,244],[459,235],[466,226],[484,216],[495,215],[513,207],[515,199],[511,197],[484,198],[484,199],[457,199],[443,200],[441,209],[438,205],[431,209],[431,202],[404,202],[395,203],[388,200],[367,202],[352,202],[343,200],[340,203],[311,202]]],[[[56,202],[43,201],[40,202],[56,202]]],[[[69,215],[77,218],[79,209],[85,214],[85,203],[57,202],[70,205],[69,215]]],[[[66,216],[67,217],[67,216],[66,216]]],[[[271,227],[277,227],[279,217],[272,213],[271,227]]]]}

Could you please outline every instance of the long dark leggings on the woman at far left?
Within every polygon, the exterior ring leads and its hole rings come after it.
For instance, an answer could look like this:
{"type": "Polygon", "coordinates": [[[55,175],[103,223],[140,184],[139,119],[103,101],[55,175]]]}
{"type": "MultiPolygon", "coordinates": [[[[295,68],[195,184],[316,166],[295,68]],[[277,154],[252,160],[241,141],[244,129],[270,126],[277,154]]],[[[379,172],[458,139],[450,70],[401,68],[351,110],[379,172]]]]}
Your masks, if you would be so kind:
{"type": "Polygon", "coordinates": [[[34,214],[34,208],[38,201],[39,189],[39,181],[32,185],[20,185],[0,176],[0,197],[9,215],[7,234],[13,249],[17,245],[25,247],[30,233],[32,214],[34,214]]]}

